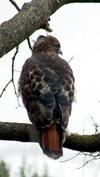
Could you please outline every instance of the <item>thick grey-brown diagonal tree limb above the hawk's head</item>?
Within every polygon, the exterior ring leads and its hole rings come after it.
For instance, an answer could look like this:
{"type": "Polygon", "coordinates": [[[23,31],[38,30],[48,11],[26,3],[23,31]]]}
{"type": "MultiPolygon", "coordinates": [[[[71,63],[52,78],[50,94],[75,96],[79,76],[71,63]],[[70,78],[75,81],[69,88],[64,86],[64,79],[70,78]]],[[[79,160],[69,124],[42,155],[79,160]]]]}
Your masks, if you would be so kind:
{"type": "Polygon", "coordinates": [[[100,2],[99,0],[32,0],[20,12],[0,26],[0,57],[18,46],[34,31],[45,26],[48,18],[61,6],[75,2],[100,2]]]}

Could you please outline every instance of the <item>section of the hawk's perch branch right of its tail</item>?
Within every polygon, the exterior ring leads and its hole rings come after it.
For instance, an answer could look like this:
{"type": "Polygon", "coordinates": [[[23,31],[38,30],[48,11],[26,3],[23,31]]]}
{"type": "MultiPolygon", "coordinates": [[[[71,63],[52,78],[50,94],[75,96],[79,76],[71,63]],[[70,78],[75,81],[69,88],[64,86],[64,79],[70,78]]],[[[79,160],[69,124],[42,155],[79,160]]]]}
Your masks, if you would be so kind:
{"type": "Polygon", "coordinates": [[[67,136],[64,147],[81,152],[100,151],[100,134],[71,134],[71,136],[67,136]]]}

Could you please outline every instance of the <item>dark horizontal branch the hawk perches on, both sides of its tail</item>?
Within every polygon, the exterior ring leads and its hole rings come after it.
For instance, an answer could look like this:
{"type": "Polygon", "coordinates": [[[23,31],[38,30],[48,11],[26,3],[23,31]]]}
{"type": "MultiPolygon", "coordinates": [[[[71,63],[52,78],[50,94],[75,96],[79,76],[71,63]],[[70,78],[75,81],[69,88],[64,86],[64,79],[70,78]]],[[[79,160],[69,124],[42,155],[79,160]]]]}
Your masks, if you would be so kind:
{"type": "MultiPolygon", "coordinates": [[[[0,122],[0,140],[38,142],[38,137],[31,124],[0,122]]],[[[72,134],[67,136],[64,147],[82,152],[100,151],[100,134],[72,134]]]]}

